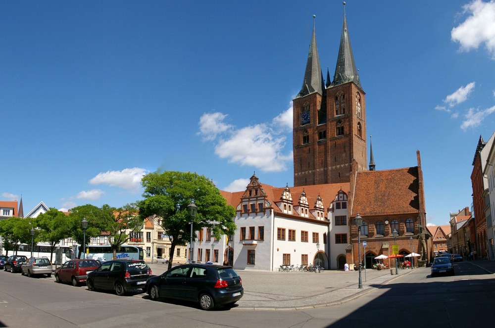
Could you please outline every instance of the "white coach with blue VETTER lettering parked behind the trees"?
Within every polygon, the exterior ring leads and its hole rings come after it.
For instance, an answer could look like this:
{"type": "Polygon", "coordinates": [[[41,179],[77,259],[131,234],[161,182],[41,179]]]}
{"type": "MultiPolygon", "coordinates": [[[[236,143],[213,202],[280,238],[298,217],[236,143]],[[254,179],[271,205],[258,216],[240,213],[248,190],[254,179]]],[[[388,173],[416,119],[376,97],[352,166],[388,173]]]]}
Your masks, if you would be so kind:
{"type": "MultiPolygon", "coordinates": [[[[80,245],[74,246],[75,253],[79,254],[80,245]]],[[[88,250],[86,254],[81,252],[81,258],[87,258],[105,262],[113,259],[113,253],[110,245],[87,245],[88,250]],[[86,255],[86,257],[85,257],[86,255]]],[[[120,260],[142,260],[144,258],[143,247],[121,245],[117,250],[116,259],[120,260]]]]}

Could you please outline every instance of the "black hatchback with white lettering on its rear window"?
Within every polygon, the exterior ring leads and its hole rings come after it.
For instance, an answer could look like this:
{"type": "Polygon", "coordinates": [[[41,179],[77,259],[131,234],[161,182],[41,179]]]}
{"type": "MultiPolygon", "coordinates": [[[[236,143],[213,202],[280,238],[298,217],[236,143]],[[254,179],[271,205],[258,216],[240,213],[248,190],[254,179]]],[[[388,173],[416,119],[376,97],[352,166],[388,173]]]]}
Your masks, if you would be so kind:
{"type": "Polygon", "coordinates": [[[151,276],[151,269],[142,260],[112,260],[103,262],[86,278],[89,290],[114,289],[119,296],[127,291],[143,288],[151,276]]]}

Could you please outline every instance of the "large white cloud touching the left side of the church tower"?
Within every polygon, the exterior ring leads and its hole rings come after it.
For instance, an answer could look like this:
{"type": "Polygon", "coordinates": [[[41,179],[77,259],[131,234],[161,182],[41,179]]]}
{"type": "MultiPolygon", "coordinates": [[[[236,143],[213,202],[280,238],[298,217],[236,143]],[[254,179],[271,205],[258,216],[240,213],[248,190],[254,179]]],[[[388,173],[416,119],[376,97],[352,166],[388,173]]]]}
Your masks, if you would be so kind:
{"type": "Polygon", "coordinates": [[[292,151],[283,153],[287,141],[284,133],[289,131],[289,126],[292,131],[292,108],[274,118],[271,125],[262,123],[236,128],[223,122],[226,117],[213,113],[203,114],[199,119],[198,134],[205,141],[216,142],[215,154],[229,163],[250,165],[264,172],[287,170],[293,155],[292,151]]]}

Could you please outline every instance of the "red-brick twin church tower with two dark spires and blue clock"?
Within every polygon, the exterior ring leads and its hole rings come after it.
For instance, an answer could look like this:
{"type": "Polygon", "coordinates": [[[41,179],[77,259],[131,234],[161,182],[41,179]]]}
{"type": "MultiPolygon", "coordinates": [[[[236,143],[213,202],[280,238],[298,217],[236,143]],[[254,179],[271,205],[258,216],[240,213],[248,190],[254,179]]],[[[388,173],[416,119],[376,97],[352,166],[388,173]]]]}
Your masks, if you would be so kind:
{"type": "MultiPolygon", "coordinates": [[[[314,17],[314,16],[313,16],[314,17]]],[[[367,170],[365,94],[354,63],[346,14],[333,82],[323,85],[316,35],[301,91],[293,99],[294,186],[348,183],[352,162],[367,170]]]]}

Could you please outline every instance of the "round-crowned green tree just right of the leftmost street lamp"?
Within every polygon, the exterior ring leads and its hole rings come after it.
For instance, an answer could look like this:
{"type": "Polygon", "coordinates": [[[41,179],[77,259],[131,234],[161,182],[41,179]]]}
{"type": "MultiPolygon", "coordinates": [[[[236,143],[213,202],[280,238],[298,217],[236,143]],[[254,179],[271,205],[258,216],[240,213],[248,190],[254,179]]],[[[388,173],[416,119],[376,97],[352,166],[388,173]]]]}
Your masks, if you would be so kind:
{"type": "Polygon", "coordinates": [[[37,240],[50,244],[50,262],[52,262],[55,245],[71,234],[69,217],[56,208],[50,208],[46,213],[36,217],[36,225],[39,228],[37,240]]]}

